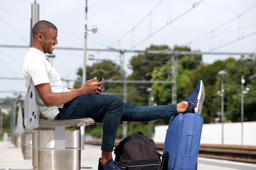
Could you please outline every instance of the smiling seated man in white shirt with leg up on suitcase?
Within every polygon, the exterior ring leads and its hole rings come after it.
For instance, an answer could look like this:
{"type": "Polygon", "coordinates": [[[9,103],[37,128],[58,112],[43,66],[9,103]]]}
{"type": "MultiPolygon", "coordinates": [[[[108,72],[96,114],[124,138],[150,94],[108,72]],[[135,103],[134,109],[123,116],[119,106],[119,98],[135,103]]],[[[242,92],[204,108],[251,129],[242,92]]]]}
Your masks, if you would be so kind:
{"type": "Polygon", "coordinates": [[[58,44],[57,28],[48,21],[37,22],[33,29],[32,46],[24,58],[23,74],[29,75],[36,87],[36,103],[48,119],[79,119],[91,117],[102,122],[103,137],[99,170],[120,170],[112,160],[115,136],[120,121],[152,121],[178,113],[201,113],[204,102],[204,84],[198,82],[195,91],[184,101],[166,106],[134,106],[124,103],[118,96],[101,95],[102,82],[97,77],[88,80],[81,88],[67,88],[45,53],[52,54],[58,44]]]}

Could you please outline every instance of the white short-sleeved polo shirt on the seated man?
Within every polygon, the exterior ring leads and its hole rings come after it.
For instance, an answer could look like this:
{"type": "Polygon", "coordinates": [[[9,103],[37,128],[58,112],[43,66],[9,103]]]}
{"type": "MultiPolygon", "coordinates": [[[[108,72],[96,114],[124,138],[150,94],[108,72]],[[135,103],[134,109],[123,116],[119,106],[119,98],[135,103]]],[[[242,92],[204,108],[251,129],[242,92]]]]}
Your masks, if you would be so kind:
{"type": "MultiPolygon", "coordinates": [[[[29,52],[24,58],[23,75],[26,79],[31,75],[35,86],[43,83],[50,83],[53,93],[70,91],[61,82],[61,77],[58,75],[52,64],[47,60],[45,53],[33,47],[29,48],[29,52]]],[[[48,119],[54,119],[54,117],[59,113],[58,108],[63,108],[63,104],[50,107],[45,106],[37,90],[36,104],[42,114],[48,119]]]]}

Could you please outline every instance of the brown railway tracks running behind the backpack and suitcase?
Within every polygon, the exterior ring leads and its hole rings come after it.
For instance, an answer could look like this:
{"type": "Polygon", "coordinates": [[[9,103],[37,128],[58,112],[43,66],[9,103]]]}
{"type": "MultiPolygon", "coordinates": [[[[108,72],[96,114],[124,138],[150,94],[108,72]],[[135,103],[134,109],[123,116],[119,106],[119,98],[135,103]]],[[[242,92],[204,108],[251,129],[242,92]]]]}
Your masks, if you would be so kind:
{"type": "MultiPolygon", "coordinates": [[[[101,145],[101,140],[85,140],[85,144],[101,145]]],[[[116,140],[115,146],[118,144],[119,141],[116,140]]],[[[163,151],[164,143],[155,145],[159,152],[163,151]]],[[[200,144],[198,156],[256,163],[256,146],[200,144]]]]}

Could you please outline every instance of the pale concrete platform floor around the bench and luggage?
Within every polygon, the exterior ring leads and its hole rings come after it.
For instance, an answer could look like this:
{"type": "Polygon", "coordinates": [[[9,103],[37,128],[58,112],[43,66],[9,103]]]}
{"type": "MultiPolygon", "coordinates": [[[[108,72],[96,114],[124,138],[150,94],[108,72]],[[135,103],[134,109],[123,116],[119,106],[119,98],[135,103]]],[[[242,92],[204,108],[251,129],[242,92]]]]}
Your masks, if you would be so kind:
{"type": "MultiPolygon", "coordinates": [[[[97,170],[100,157],[100,146],[86,144],[81,150],[81,170],[97,170]]],[[[21,148],[11,141],[0,141],[0,170],[33,170],[32,160],[24,160],[21,148]]],[[[198,170],[256,170],[256,164],[199,157],[198,170]]]]}

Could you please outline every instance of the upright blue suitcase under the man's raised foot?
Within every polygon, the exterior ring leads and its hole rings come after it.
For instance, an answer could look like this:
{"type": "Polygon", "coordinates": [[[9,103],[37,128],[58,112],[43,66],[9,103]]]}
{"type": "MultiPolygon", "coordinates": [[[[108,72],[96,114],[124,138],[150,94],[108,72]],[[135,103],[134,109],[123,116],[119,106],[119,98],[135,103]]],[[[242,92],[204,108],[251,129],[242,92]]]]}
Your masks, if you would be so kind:
{"type": "Polygon", "coordinates": [[[197,170],[203,117],[195,113],[172,116],[163,152],[168,151],[165,170],[197,170]]]}

